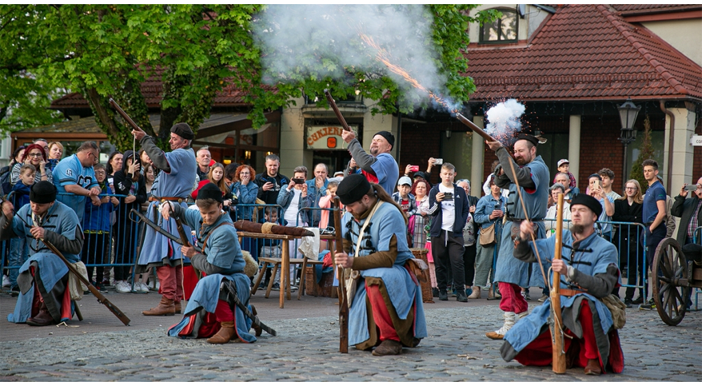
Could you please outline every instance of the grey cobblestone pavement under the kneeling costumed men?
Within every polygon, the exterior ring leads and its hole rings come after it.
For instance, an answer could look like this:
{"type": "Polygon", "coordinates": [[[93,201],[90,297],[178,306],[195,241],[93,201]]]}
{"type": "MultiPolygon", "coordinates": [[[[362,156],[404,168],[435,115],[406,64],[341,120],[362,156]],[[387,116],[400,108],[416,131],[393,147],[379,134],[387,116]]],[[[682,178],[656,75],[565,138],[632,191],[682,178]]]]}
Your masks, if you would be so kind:
{"type": "MultiPolygon", "coordinates": [[[[277,296],[277,293],[273,295],[277,296]]],[[[525,367],[499,356],[501,341],[486,331],[501,325],[495,301],[455,299],[425,303],[429,337],[397,357],[373,357],[351,347],[338,352],[336,299],[304,296],[278,308],[277,297],[253,296],[261,319],[276,329],[251,345],[209,345],[204,339],[169,338],[180,320],[143,317],[157,294],[107,294],[132,319],[122,326],[104,305],[84,298],[83,322],[67,327],[11,324],[5,317],[16,298],[0,295],[1,381],[691,381],[702,380],[702,313],[689,312],[679,326],[657,312],[630,310],[620,331],[626,367],[621,374],[564,375],[550,367],[525,367]],[[468,357],[465,357],[468,355],[468,357]]],[[[539,303],[530,302],[530,308],[539,303]]]]}

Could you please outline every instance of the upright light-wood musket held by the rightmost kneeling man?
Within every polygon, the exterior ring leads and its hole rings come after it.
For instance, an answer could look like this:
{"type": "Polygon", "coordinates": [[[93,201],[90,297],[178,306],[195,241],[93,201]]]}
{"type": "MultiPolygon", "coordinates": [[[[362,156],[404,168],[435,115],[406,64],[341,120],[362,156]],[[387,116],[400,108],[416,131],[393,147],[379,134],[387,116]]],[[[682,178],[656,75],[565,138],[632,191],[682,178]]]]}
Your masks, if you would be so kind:
{"type": "MultiPolygon", "coordinates": [[[[562,258],[563,248],[563,193],[558,193],[558,203],[556,207],[556,246],[553,260],[562,258]]],[[[553,271],[553,284],[551,286],[551,312],[553,312],[553,326],[551,329],[553,362],[552,370],[557,374],[566,372],[566,354],[563,351],[563,321],[561,318],[561,274],[553,271]]]]}

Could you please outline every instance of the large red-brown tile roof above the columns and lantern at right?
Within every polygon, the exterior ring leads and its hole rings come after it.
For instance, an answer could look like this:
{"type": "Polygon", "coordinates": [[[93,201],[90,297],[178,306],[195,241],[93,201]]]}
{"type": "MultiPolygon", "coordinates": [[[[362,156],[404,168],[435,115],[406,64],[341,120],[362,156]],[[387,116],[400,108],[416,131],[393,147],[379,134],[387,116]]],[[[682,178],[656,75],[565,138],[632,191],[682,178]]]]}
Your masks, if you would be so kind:
{"type": "Polygon", "coordinates": [[[526,46],[466,50],[473,100],[702,97],[702,68],[606,5],[560,6],[526,46]]]}

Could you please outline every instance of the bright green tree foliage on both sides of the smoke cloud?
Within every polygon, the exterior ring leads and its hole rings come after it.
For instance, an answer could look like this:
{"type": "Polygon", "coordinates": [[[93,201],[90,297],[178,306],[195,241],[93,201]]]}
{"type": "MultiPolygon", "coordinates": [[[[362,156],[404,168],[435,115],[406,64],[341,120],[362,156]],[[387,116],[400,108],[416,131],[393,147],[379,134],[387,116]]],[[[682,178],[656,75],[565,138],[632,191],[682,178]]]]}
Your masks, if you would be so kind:
{"type": "MultiPolygon", "coordinates": [[[[432,5],[433,43],[439,71],[458,102],[475,89],[463,76],[468,61],[468,22],[488,20],[495,11],[470,18],[472,5],[432,5]]],[[[356,79],[299,77],[271,87],[261,81],[261,53],[251,22],[265,12],[260,5],[0,5],[0,132],[51,123],[59,114],[46,110],[51,99],[71,90],[88,100],[95,120],[118,149],[131,147],[130,127],[110,108],[110,97],[147,134],[168,137],[168,127],[185,121],[195,130],[209,116],[213,99],[225,86],[243,90],[253,104],[254,127],[264,112],[289,105],[303,90],[321,95],[352,95],[357,89],[380,101],[374,113],[396,111],[402,95],[387,77],[356,79]],[[163,82],[160,127],[150,124],[150,111],[140,84],[163,82]]],[[[293,74],[294,75],[294,74],[293,74]]],[[[161,142],[165,144],[165,142],[161,142]]]]}

